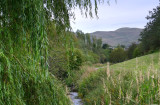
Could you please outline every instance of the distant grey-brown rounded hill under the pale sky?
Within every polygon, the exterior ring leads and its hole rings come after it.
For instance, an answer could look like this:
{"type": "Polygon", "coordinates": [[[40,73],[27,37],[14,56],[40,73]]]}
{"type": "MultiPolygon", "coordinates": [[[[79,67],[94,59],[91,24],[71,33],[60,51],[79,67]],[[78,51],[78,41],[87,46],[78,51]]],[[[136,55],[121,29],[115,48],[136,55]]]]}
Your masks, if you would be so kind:
{"type": "Polygon", "coordinates": [[[102,38],[103,43],[108,43],[111,46],[118,44],[129,46],[131,43],[138,43],[139,34],[143,29],[140,28],[120,28],[115,31],[96,31],[90,33],[91,36],[102,38]]]}

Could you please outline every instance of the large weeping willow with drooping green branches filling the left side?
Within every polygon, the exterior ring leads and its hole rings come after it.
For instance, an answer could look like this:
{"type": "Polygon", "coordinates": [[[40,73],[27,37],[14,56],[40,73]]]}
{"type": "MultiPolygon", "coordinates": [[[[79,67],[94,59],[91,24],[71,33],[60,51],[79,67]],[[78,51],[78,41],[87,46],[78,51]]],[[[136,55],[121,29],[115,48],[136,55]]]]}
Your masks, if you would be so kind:
{"type": "Polygon", "coordinates": [[[68,104],[48,72],[47,24],[70,29],[73,8],[92,17],[101,0],[0,1],[0,104],[68,104]]]}

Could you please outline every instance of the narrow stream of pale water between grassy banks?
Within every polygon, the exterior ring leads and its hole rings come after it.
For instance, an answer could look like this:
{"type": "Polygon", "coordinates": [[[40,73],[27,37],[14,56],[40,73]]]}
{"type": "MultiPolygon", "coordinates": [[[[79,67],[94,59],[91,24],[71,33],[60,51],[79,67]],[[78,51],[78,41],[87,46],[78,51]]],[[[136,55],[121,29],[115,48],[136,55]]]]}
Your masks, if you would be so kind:
{"type": "Polygon", "coordinates": [[[72,99],[73,105],[83,105],[82,99],[78,97],[77,92],[70,92],[70,97],[72,99]]]}

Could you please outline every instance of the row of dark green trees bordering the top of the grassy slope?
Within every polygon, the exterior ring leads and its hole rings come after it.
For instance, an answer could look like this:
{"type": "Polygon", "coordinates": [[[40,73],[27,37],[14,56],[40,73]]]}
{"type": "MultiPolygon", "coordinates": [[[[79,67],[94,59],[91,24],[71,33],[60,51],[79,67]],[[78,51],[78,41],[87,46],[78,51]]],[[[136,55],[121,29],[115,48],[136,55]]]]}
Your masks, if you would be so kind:
{"type": "Polygon", "coordinates": [[[118,45],[109,54],[110,62],[122,62],[160,49],[160,6],[157,6],[153,11],[149,11],[149,16],[146,19],[149,22],[140,33],[139,44],[132,43],[127,48],[118,45]]]}

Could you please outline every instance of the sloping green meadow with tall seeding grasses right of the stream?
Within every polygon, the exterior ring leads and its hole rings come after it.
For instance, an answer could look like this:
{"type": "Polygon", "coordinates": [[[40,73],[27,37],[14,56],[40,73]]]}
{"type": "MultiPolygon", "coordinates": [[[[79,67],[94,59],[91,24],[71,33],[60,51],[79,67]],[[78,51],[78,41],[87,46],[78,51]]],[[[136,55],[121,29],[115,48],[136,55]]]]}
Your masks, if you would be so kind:
{"type": "Polygon", "coordinates": [[[79,81],[85,105],[160,104],[160,53],[100,68],[79,81]]]}

